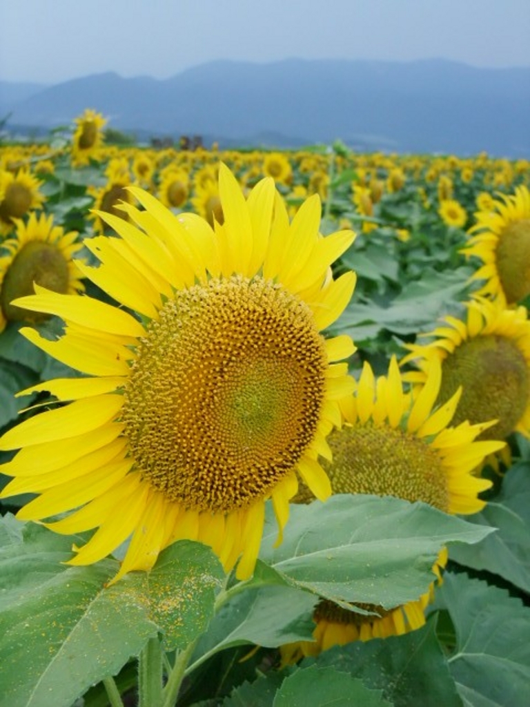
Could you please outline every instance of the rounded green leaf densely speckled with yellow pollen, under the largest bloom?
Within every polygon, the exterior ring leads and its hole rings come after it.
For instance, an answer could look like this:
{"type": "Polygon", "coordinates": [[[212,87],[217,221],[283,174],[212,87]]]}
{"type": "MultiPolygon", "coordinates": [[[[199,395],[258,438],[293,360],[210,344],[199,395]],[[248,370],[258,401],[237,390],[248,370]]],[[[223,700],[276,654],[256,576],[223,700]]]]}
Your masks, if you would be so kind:
{"type": "Polygon", "coordinates": [[[151,572],[126,575],[117,587],[141,597],[164,634],[165,650],[185,648],[206,631],[215,597],[225,578],[209,547],[181,540],[160,553],[151,572]]]}

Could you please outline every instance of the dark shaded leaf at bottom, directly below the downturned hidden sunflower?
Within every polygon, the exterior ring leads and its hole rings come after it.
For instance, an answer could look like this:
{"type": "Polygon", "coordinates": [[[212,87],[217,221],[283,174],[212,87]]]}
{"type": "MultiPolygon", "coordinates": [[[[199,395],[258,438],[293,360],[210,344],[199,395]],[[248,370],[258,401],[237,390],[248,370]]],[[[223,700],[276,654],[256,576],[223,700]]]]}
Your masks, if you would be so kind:
{"type": "Polygon", "coordinates": [[[435,621],[404,636],[337,645],[314,662],[350,672],[371,688],[382,689],[396,707],[460,707],[461,699],[435,632],[435,621]]]}

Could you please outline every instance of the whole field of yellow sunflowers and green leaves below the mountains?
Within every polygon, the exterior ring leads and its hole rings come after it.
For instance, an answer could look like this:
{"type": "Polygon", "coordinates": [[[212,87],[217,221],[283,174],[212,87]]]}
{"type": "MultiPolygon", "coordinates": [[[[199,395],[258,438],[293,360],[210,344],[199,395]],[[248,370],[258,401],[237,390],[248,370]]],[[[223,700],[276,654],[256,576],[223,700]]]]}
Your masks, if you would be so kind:
{"type": "Polygon", "coordinates": [[[530,163],[0,145],[0,707],[525,706],[530,163]]]}

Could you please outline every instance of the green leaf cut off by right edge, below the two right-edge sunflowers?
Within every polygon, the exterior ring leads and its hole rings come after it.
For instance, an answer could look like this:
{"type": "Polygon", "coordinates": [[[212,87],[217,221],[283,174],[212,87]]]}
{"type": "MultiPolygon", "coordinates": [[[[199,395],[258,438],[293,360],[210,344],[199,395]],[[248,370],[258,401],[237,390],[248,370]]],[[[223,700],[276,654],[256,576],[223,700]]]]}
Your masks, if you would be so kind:
{"type": "Polygon", "coordinates": [[[451,559],[493,572],[530,592],[530,462],[512,467],[498,496],[467,520],[498,530],[476,545],[455,546],[451,559]]]}

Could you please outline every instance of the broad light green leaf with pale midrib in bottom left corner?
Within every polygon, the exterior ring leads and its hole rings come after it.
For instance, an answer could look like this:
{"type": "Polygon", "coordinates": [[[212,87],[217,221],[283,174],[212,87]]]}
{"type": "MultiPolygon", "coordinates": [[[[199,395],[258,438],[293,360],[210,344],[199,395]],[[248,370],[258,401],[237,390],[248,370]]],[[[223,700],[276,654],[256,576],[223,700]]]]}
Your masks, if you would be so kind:
{"type": "Polygon", "coordinates": [[[1,707],[70,707],[158,634],[141,597],[122,585],[105,589],[115,561],[65,568],[64,538],[55,549],[58,536],[38,530],[24,537],[33,552],[20,548],[18,561],[1,563],[10,590],[0,613],[1,707]],[[30,578],[16,592],[26,565],[30,578]]]}

